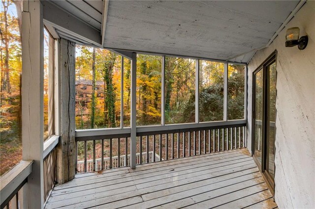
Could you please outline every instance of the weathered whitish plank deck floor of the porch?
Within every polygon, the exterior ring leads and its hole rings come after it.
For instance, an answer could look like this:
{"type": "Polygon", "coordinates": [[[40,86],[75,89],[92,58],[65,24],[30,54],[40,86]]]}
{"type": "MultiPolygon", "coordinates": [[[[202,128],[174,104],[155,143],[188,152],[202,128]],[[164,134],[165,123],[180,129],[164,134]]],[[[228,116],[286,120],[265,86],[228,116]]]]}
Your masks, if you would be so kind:
{"type": "Polygon", "coordinates": [[[277,208],[247,149],[76,175],[56,185],[55,208],[277,208]]]}

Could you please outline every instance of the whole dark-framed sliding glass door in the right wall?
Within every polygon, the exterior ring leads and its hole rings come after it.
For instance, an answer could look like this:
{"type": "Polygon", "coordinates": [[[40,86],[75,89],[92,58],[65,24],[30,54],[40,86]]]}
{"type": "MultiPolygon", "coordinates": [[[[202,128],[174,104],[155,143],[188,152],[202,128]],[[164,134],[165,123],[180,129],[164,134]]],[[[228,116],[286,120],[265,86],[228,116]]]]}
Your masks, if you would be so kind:
{"type": "Polygon", "coordinates": [[[253,73],[253,156],[274,188],[276,136],[276,52],[253,73]]]}

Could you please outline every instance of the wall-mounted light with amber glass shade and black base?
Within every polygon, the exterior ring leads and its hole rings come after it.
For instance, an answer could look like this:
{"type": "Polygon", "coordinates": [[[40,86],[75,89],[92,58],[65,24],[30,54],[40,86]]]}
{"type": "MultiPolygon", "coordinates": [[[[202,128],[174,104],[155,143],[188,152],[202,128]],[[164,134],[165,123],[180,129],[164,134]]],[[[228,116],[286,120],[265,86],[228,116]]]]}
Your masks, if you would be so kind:
{"type": "Polygon", "coordinates": [[[293,47],[296,46],[299,50],[303,50],[306,48],[309,38],[307,35],[300,36],[300,29],[298,27],[289,28],[286,30],[285,35],[285,47],[293,47]]]}

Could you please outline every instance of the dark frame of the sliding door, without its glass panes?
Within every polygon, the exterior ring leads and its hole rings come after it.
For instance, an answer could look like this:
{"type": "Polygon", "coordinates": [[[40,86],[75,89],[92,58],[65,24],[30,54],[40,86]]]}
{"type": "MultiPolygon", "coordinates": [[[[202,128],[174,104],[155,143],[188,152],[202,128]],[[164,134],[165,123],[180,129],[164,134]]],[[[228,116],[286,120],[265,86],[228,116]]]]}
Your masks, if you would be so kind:
{"type": "MultiPolygon", "coordinates": [[[[267,118],[267,112],[266,112],[266,108],[267,108],[267,101],[266,101],[266,96],[267,96],[267,92],[266,92],[266,85],[267,83],[267,66],[270,65],[271,63],[275,62],[276,63],[276,80],[277,80],[277,50],[275,50],[273,53],[271,53],[271,55],[268,56],[268,58],[266,60],[264,60],[253,72],[252,72],[252,157],[255,161],[255,163],[257,164],[257,167],[262,175],[262,177],[264,178],[267,186],[269,187],[272,195],[275,195],[275,181],[273,178],[271,178],[271,176],[268,174],[268,172],[265,172],[265,168],[266,168],[266,157],[267,156],[267,149],[265,149],[266,144],[268,144],[267,142],[267,137],[265,134],[266,131],[266,118],[267,118]],[[261,145],[261,167],[259,167],[260,163],[258,162],[257,158],[254,156],[254,113],[255,113],[255,96],[254,96],[254,91],[255,91],[255,74],[257,72],[259,72],[260,70],[262,70],[263,72],[263,98],[262,98],[262,116],[263,116],[263,122],[262,122],[262,145],[261,145]]],[[[277,92],[276,92],[277,94],[277,92]]],[[[277,109],[276,109],[276,113],[277,113],[277,109]]],[[[277,115],[277,114],[276,114],[277,115]]],[[[275,127],[275,133],[276,133],[276,127],[275,127]]],[[[275,148],[276,149],[276,148],[275,148]]],[[[275,165],[275,173],[276,173],[276,165],[275,165]]]]}

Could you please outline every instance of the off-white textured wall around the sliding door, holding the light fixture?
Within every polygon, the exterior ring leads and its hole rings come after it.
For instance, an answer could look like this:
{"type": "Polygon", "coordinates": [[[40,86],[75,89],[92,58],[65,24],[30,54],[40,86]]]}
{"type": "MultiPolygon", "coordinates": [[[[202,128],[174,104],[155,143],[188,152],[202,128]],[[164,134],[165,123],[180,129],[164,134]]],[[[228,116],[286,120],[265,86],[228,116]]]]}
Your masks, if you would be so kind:
{"type": "Polygon", "coordinates": [[[277,50],[275,200],[281,209],[315,209],[315,1],[307,3],[273,43],[248,64],[248,148],[252,136],[252,72],[277,50]],[[305,50],[285,47],[287,28],[307,34],[305,50]]]}

